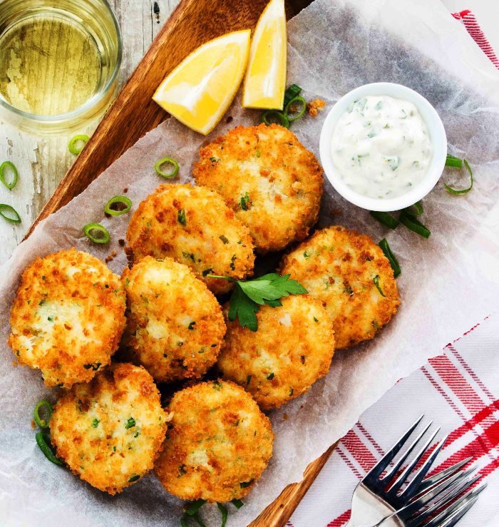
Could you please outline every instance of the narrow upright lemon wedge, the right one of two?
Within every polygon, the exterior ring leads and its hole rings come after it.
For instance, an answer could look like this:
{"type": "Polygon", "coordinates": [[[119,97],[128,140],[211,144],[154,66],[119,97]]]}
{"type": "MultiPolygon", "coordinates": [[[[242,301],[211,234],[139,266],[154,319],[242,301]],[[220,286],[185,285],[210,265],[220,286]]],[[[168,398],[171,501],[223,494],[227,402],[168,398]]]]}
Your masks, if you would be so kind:
{"type": "Polygon", "coordinates": [[[271,0],[254,29],[242,106],[282,110],[286,88],[286,56],[284,0],[271,0]]]}

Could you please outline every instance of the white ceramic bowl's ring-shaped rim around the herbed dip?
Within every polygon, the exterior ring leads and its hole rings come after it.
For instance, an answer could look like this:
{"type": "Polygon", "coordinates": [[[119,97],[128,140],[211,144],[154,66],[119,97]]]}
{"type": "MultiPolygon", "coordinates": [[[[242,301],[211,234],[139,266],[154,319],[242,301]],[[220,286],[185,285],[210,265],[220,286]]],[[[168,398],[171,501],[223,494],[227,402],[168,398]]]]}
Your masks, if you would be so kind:
{"type": "Polygon", "coordinates": [[[443,167],[446,165],[447,156],[447,138],[446,131],[443,129],[443,123],[435,108],[431,106],[426,98],[421,96],[416,91],[402,86],[401,84],[394,84],[389,82],[378,82],[372,84],[364,84],[359,86],[349,93],[346,93],[339,101],[331,108],[324,125],[322,126],[321,139],[319,143],[319,152],[321,155],[321,163],[326,173],[326,177],[336,191],[341,194],[350,203],[354,203],[358,207],[367,210],[391,211],[401,210],[413,205],[416,201],[424,198],[430,190],[436,185],[438,179],[441,177],[443,167]],[[340,173],[336,170],[333,160],[331,158],[331,138],[334,127],[338,119],[344,114],[346,108],[351,103],[366,96],[391,96],[393,98],[403,99],[413,103],[418,108],[423,121],[428,126],[428,133],[430,134],[431,144],[433,145],[433,157],[428,167],[428,172],[425,177],[415,185],[408,193],[389,199],[368,198],[346,185],[340,173]]]}

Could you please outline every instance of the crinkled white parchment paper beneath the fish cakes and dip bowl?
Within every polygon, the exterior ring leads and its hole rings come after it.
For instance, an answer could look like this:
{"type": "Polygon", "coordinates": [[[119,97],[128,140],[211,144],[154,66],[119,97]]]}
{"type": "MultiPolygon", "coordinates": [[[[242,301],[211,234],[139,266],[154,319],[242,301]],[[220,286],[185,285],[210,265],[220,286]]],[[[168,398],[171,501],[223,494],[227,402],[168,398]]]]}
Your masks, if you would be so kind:
{"type": "MultiPolygon", "coordinates": [[[[401,309],[373,342],[337,352],[327,377],[272,413],[274,456],[245,506],[237,513],[230,506],[232,526],[249,523],[287,483],[302,479],[307,464],[344,435],[364,409],[493,311],[499,297],[493,272],[499,264],[494,210],[499,196],[499,109],[492,100],[499,75],[448,11],[434,0],[317,0],[289,23],[288,80],[304,87],[307,98],[324,98],[327,108],[367,82],[395,81],[416,89],[443,118],[450,153],[470,161],[475,187],[458,197],[441,183],[433,190],[423,201],[423,222],[432,232],[424,240],[404,227],[388,232],[326,184],[321,225],[330,225],[331,209],[339,209],[334,221],[375,240],[388,238],[403,270],[398,278],[401,309]]],[[[293,128],[317,154],[326,111],[293,128]]],[[[224,121],[212,137],[237,124],[256,123],[258,117],[257,112],[241,111],[239,100],[228,115],[232,123],[224,121]]],[[[41,396],[53,394],[43,387],[38,372],[12,364],[7,321],[19,274],[38,255],[72,245],[101,258],[116,250],[110,267],[120,272],[125,257],[118,240],[125,237],[129,218],[103,218],[103,205],[128,188],[136,207],[163,183],[152,168],[163,155],[180,160],[180,180],[190,180],[203,140],[173,119],[159,126],[82,195],[41,223],[1,268],[1,525],[178,525],[180,501],[168,496],[154,476],[111,497],[46,461],[34,441],[31,412],[41,396]],[[82,237],[81,227],[91,221],[109,228],[110,247],[96,247],[82,237]]],[[[461,177],[466,184],[466,176],[461,177]]],[[[450,170],[443,176],[451,183],[456,178],[458,173],[450,170]]],[[[203,509],[210,526],[220,525],[216,507],[203,509]]]]}

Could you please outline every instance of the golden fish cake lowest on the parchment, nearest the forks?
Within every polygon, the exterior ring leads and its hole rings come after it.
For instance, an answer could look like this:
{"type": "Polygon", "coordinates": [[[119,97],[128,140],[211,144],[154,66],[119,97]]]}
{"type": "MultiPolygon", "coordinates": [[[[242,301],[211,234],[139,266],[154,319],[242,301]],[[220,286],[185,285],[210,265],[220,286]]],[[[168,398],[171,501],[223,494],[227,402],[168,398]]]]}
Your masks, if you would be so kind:
{"type": "Polygon", "coordinates": [[[269,418],[232,382],[203,382],[170,402],[165,449],[155,472],[185,500],[230,501],[245,496],[272,456],[269,418]]]}

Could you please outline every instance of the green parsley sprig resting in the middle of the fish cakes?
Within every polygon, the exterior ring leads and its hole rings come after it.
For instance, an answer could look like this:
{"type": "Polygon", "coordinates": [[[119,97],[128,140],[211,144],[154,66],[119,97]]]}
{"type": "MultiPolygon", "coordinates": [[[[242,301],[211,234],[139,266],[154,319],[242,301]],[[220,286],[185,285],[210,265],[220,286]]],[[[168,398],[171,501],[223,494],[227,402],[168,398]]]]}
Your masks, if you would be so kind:
{"type": "Polygon", "coordinates": [[[222,278],[228,282],[235,282],[235,288],[230,297],[229,320],[239,319],[241,327],[257,331],[257,312],[261,305],[271,307],[282,306],[281,298],[289,295],[306,295],[307,290],[297,282],[290,280],[290,275],[278,275],[269,272],[252,280],[234,280],[231,277],[207,275],[208,278],[222,278]]]}

